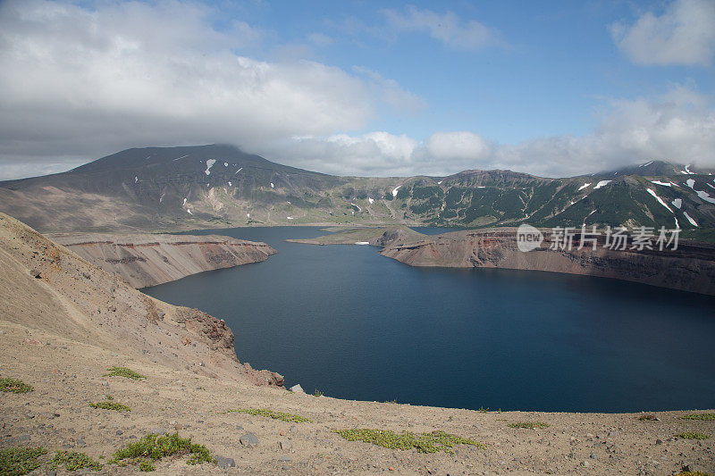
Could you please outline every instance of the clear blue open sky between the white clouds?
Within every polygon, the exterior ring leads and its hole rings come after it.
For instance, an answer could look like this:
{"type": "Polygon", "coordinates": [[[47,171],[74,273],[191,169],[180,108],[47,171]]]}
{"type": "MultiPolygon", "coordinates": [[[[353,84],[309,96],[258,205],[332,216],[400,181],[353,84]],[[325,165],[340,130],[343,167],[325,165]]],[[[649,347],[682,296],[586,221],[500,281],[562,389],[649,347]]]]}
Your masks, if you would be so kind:
{"type": "MultiPolygon", "coordinates": [[[[346,71],[365,66],[423,97],[423,113],[388,115],[371,124],[416,137],[434,129],[474,129],[502,142],[581,135],[593,129],[594,113],[604,99],[657,95],[690,80],[708,94],[715,86],[711,67],[643,67],[619,52],[610,25],[633,22],[652,2],[380,2],[379,8],[374,4],[378,3],[315,2],[304,8],[295,2],[272,2],[238,10],[243,18],[270,30],[278,45],[308,44],[318,61],[346,71]],[[498,38],[484,46],[460,47],[422,31],[391,31],[384,11],[404,13],[408,5],[455,13],[460,26],[479,21],[494,29],[498,38]],[[355,31],[346,24],[355,25],[355,31]],[[329,38],[330,44],[310,45],[307,38],[315,33],[329,38]]],[[[652,11],[662,12],[665,5],[652,11]]],[[[270,58],[270,52],[264,54],[270,58]]]]}

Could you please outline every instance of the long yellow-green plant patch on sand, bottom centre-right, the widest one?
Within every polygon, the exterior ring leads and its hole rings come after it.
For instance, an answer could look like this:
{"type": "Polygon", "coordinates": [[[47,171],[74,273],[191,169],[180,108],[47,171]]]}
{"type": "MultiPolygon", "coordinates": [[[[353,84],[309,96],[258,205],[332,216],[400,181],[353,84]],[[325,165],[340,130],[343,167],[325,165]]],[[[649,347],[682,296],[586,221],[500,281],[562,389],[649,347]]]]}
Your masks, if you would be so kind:
{"type": "Polygon", "coordinates": [[[348,441],[364,441],[378,447],[400,449],[402,451],[416,448],[419,453],[444,451],[451,454],[454,453],[451,448],[455,445],[484,447],[482,443],[478,443],[474,439],[461,438],[439,430],[420,434],[412,433],[411,431],[395,433],[391,430],[370,429],[334,430],[334,432],[348,441]]]}

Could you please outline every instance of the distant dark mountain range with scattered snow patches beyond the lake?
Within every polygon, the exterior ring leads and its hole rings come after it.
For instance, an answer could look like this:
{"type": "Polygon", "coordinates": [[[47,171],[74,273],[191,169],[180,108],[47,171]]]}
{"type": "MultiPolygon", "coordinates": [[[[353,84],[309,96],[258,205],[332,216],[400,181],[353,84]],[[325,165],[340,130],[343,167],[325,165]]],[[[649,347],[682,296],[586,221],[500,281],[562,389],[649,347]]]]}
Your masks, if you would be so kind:
{"type": "Polygon", "coordinates": [[[43,231],[405,223],[476,228],[715,228],[715,170],[653,161],[545,179],[515,171],[337,177],[235,146],[124,150],[71,171],[0,182],[0,211],[43,231]]]}

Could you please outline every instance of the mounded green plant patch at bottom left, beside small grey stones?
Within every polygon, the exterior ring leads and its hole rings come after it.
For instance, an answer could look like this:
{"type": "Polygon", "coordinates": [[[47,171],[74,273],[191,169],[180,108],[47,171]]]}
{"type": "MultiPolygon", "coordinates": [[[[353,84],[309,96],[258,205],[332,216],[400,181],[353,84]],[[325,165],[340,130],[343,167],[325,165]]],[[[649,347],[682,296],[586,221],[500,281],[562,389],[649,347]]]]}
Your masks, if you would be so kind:
{"type": "Polygon", "coordinates": [[[130,443],[115,451],[113,463],[126,463],[128,461],[129,463],[141,465],[142,462],[159,461],[164,456],[181,455],[189,455],[189,459],[186,462],[188,464],[215,463],[215,459],[208,448],[204,445],[191,443],[191,438],[181,438],[178,432],[164,436],[149,433],[136,443],[130,443]]]}

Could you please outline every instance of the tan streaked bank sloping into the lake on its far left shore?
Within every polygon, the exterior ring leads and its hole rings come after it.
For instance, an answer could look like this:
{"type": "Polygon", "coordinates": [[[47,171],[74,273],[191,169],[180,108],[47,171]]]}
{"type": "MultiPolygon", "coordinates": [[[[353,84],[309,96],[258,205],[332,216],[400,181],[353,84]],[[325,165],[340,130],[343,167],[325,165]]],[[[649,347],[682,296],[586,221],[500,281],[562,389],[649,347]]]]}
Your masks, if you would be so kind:
{"type": "Polygon", "coordinates": [[[114,272],[134,288],[189,274],[264,261],[276,251],[265,243],[214,235],[48,235],[89,263],[114,272]]]}

